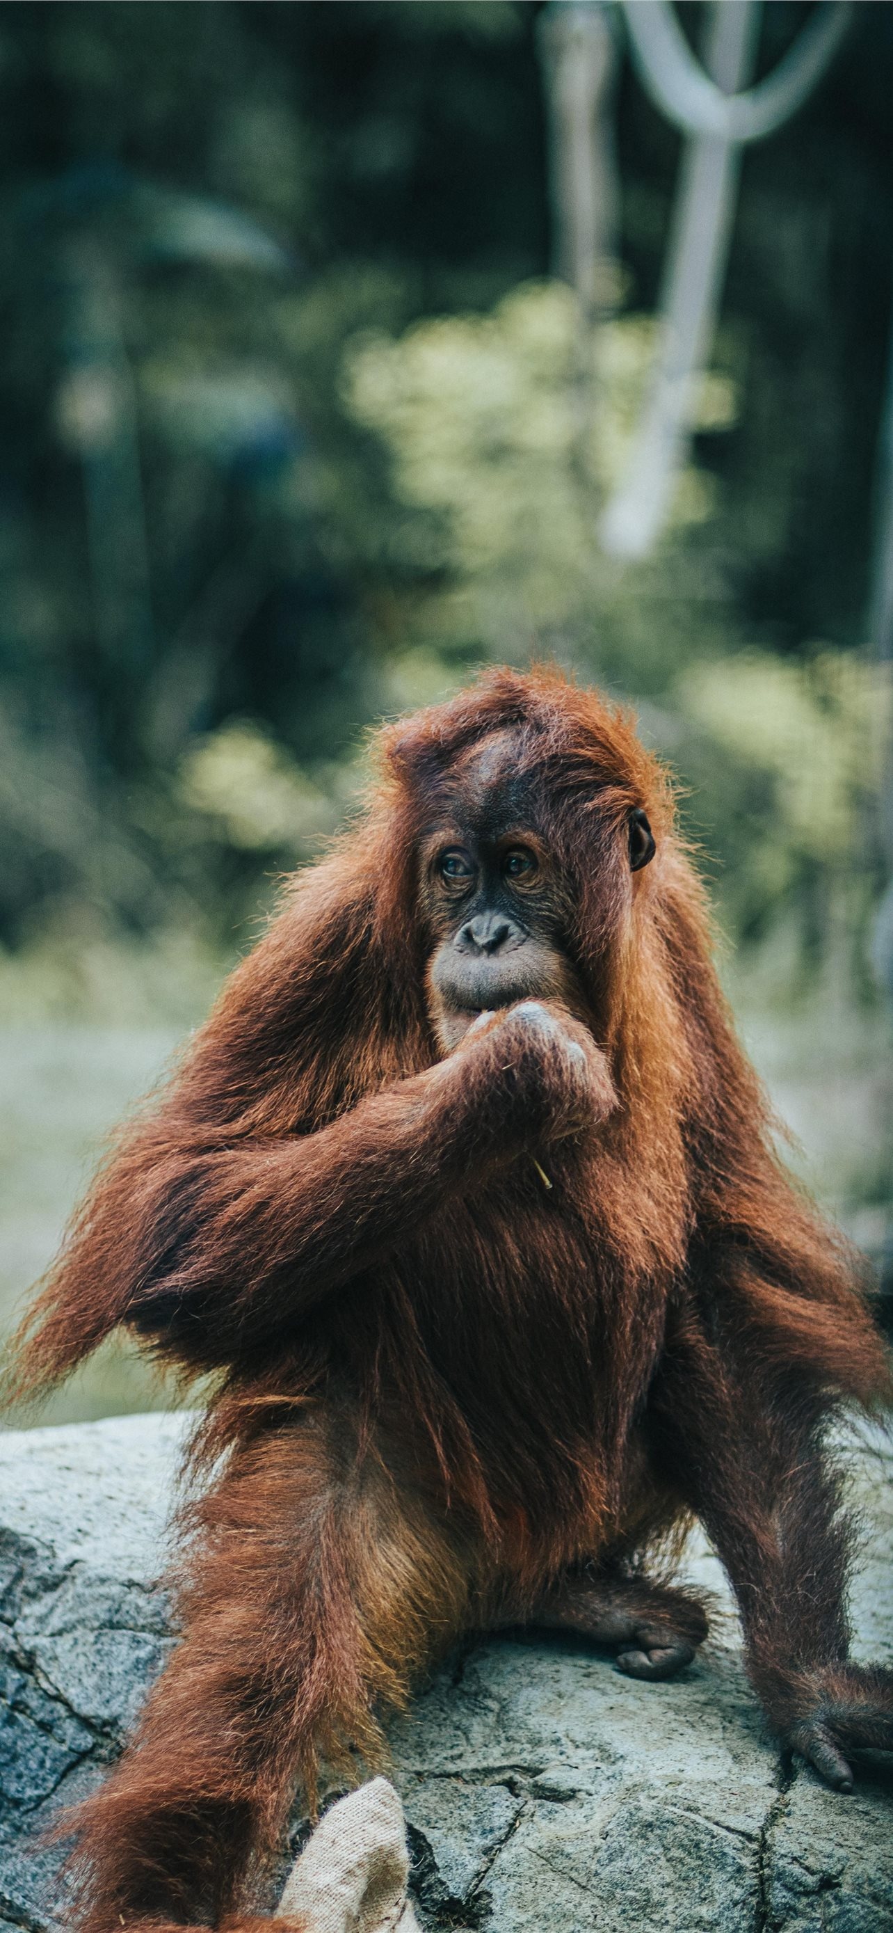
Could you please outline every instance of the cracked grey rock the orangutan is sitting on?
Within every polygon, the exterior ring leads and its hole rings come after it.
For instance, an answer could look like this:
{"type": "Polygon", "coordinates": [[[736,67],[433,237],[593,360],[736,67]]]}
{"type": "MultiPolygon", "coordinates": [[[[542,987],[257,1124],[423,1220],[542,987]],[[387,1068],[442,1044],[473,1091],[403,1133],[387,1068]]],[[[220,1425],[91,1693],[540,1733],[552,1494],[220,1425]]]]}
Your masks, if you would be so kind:
{"type": "MultiPolygon", "coordinates": [[[[158,1573],[184,1417],[0,1434],[0,1933],[62,1933],[52,1813],[102,1776],[170,1647],[158,1573]]],[[[893,1454],[847,1450],[866,1519],[856,1655],[893,1659],[893,1454]]],[[[429,1933],[893,1933],[893,1767],[852,1798],[779,1759],[719,1566],[715,1635],[669,1684],[499,1637],[392,1726],[429,1933]]],[[[302,1834],[302,1825],[296,1825],[302,1834]]]]}

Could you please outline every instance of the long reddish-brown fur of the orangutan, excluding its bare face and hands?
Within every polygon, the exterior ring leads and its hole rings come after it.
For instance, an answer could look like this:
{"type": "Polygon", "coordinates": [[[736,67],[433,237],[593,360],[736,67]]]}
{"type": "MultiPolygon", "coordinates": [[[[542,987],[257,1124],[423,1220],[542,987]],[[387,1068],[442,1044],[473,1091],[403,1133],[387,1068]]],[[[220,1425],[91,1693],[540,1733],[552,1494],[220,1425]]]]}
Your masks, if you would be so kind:
{"type": "MultiPolygon", "coordinates": [[[[754,1682],[769,1709],[796,1703],[812,1655],[796,1670],[781,1657],[771,1525],[798,1477],[775,1467],[767,1417],[814,1444],[837,1403],[889,1394],[887,1367],[852,1256],[779,1162],[671,787],[624,713],[553,671],[495,671],[381,735],[363,818],[292,881],[95,1183],[33,1311],[17,1396],[118,1326],[186,1376],[213,1372],[195,1454],[215,1481],[182,1558],[187,1641],[75,1821],[89,1933],[120,1908],[128,1925],[133,1910],[158,1929],[253,1925],[244,1900],[294,1776],[311,1784],[319,1751],[375,1761],[377,1711],[479,1620],[495,1579],[533,1606],[613,1539],[632,1548],[690,1508],[711,1527],[713,1496],[738,1597],[763,1593],[754,1682]],[[504,1175],[474,1146],[445,1185],[390,1102],[439,1059],[418,839],[439,777],[506,727],[574,883],[572,953],[617,1092],[595,1137],[555,1152],[555,1202],[530,1166],[504,1175]],[[657,839],[634,880],[609,845],[632,806],[657,839]],[[319,1131],[334,1139],[317,1171],[321,1144],[302,1137],[319,1131]],[[394,1158],[365,1185],[369,1135],[394,1158]],[[348,1187],[356,1226],[336,1239],[348,1187]],[[296,1272],[298,1222],[315,1260],[296,1272]],[[638,1475],[646,1411],[669,1463],[684,1436],[667,1492],[638,1475]]],[[[823,1618],[806,1651],[837,1657],[835,1479],[791,1512],[787,1550],[820,1525],[820,1608],[792,1616],[810,1631],[823,1618]]]]}

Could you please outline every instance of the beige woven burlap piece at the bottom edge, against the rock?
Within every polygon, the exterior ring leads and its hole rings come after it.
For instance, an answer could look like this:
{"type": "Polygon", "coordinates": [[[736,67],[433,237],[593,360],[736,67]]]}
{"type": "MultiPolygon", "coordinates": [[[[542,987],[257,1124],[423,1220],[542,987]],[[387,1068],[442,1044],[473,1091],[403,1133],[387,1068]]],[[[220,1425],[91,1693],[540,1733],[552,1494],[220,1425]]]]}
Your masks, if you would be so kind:
{"type": "Polygon", "coordinates": [[[338,1800],[286,1879],[278,1912],[307,1933],[419,1933],[406,1898],[404,1809],[387,1778],[338,1800]]]}

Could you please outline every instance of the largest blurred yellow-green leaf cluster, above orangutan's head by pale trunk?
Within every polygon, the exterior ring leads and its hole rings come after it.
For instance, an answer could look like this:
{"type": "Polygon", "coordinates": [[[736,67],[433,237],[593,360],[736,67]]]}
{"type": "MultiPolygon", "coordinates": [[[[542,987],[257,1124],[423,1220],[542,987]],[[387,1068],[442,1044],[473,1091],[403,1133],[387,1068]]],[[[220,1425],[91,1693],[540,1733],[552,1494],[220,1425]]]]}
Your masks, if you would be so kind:
{"type": "MultiPolygon", "coordinates": [[[[649,317],[620,317],[582,356],[572,290],[532,282],[487,315],[435,317],[398,340],[365,334],[350,346],[348,408],[389,447],[404,503],[443,514],[443,561],[475,597],[485,636],[510,624],[522,636],[555,630],[611,570],[597,510],[622,474],[653,329],[649,317]]],[[[733,416],[731,385],[711,377],[698,421],[725,427],[733,416]]],[[[707,479],[686,470],[675,524],[707,508],[707,479]]]]}

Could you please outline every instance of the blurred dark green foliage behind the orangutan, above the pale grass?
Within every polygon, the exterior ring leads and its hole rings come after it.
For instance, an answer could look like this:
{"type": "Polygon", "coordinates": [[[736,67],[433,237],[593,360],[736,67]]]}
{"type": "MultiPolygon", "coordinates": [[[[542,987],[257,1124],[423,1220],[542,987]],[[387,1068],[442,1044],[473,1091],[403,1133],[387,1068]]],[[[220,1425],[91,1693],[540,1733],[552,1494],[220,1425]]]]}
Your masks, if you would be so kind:
{"type": "MultiPolygon", "coordinates": [[[[763,10],[763,68],[802,14],[763,10]]],[[[532,655],[638,704],[736,939],[787,922],[800,972],[845,934],[868,984],[893,8],[746,157],[694,460],[628,568],[595,522],[678,139],[626,66],[626,305],[582,412],[535,17],[0,6],[0,941],[41,997],[35,961],[97,995],[110,947],[191,984],[344,814],[375,717],[532,655]]]]}

